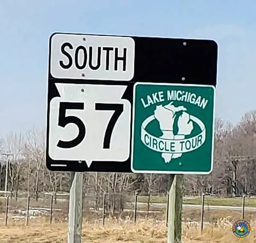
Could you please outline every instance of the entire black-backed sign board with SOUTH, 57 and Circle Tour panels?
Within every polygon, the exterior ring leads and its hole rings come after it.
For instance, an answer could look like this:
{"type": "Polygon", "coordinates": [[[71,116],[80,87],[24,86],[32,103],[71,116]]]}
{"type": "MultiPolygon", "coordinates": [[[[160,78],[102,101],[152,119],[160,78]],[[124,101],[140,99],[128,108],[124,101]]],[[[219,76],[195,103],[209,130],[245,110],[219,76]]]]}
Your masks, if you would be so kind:
{"type": "Polygon", "coordinates": [[[213,40],[52,34],[47,168],[208,173],[216,77],[213,40]]]}

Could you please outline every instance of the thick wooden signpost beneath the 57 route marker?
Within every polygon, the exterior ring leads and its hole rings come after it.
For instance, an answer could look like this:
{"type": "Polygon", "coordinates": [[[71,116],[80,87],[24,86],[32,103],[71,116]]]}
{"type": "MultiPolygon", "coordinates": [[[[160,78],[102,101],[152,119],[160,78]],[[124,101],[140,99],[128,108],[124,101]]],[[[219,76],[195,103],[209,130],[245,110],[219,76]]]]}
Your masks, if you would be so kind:
{"type": "MultiPolygon", "coordinates": [[[[72,176],[73,177],[73,176],[72,176]]],[[[84,174],[75,172],[70,188],[68,243],[81,243],[84,174]]]]}

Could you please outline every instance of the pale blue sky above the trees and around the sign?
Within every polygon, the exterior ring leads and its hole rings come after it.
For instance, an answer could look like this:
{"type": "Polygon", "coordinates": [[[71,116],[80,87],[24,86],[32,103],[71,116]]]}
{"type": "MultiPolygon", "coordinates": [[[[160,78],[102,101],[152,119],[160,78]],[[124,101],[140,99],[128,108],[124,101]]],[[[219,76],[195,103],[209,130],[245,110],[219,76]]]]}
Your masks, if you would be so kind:
{"type": "Polygon", "coordinates": [[[256,109],[254,0],[1,0],[0,137],[45,127],[53,32],[209,38],[218,43],[215,115],[256,109]]]}

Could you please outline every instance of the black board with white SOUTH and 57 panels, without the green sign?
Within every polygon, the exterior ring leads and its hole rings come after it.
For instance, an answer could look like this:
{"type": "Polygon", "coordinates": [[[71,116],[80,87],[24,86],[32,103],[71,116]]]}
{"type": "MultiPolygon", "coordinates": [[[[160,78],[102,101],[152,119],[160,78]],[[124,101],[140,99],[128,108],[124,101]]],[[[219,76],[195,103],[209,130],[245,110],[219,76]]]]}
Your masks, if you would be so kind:
{"type": "Polygon", "coordinates": [[[212,40],[54,33],[46,165],[131,173],[134,84],[216,85],[212,40]]]}

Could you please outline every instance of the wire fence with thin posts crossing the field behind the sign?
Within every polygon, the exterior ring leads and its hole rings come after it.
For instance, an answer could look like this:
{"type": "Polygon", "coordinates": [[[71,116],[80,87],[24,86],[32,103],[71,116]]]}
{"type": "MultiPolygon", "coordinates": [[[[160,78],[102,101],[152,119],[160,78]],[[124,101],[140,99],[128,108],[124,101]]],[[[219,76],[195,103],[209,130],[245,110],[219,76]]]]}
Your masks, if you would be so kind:
{"type": "MultiPolygon", "coordinates": [[[[83,220],[100,221],[104,226],[108,218],[130,220],[154,218],[166,220],[168,197],[166,194],[137,193],[91,193],[83,198],[83,220]],[[105,197],[105,198],[104,198],[105,197]]],[[[27,196],[19,194],[0,194],[0,221],[5,225],[13,221],[30,221],[44,218],[45,222],[63,222],[68,220],[69,194],[39,194],[27,196]]],[[[215,224],[220,220],[234,222],[243,217],[252,220],[256,217],[256,197],[216,197],[183,196],[183,222],[194,223],[203,229],[206,224],[215,224]]]]}

